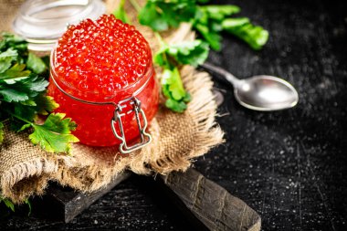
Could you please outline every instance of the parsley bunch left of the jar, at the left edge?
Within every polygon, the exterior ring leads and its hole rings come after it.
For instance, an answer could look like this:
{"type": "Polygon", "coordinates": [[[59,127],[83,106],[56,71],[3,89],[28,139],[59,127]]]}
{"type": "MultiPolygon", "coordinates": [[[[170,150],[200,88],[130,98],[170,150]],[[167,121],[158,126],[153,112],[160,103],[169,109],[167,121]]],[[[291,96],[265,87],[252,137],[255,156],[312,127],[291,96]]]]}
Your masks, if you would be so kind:
{"type": "Polygon", "coordinates": [[[0,144],[4,142],[4,122],[15,131],[29,128],[29,139],[47,152],[69,152],[76,123],[46,95],[48,68],[42,58],[28,52],[21,37],[4,33],[0,41],[0,144]],[[41,121],[41,122],[40,122],[41,121]]]}

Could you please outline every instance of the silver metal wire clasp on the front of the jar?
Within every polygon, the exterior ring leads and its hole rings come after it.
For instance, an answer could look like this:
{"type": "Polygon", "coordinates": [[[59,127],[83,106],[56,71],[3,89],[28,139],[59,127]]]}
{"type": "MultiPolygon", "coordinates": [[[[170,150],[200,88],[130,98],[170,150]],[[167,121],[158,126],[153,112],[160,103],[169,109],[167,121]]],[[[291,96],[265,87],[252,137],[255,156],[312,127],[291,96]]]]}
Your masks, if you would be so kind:
{"type": "Polygon", "coordinates": [[[152,142],[152,136],[146,131],[147,129],[146,115],[141,109],[141,101],[138,100],[136,97],[131,97],[125,100],[121,100],[117,104],[117,107],[113,113],[113,118],[110,120],[110,126],[112,128],[114,136],[121,141],[119,149],[122,154],[127,154],[135,150],[141,149],[148,143],[152,142]],[[126,110],[126,108],[128,108],[129,106],[131,106],[131,109],[126,110]],[[121,117],[126,114],[130,114],[132,111],[135,111],[136,121],[137,121],[137,125],[140,132],[140,142],[135,143],[131,146],[128,146],[125,140],[125,134],[124,134],[123,125],[121,122],[121,117]],[[142,116],[143,127],[141,125],[140,115],[142,116]],[[115,128],[116,122],[118,123],[118,126],[120,127],[121,134],[118,134],[118,132],[116,131],[116,128],[115,128]]]}

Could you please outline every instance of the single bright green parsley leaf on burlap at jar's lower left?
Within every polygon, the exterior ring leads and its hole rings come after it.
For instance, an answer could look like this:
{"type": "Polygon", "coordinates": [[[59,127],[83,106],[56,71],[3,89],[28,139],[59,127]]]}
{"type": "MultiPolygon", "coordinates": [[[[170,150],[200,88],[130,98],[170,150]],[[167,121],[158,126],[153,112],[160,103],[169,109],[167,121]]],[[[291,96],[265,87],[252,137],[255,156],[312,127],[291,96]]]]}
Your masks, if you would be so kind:
{"type": "Polygon", "coordinates": [[[76,123],[64,117],[63,113],[51,113],[43,125],[33,123],[34,132],[29,135],[31,142],[47,152],[69,152],[70,143],[79,142],[79,139],[71,134],[76,123]]]}

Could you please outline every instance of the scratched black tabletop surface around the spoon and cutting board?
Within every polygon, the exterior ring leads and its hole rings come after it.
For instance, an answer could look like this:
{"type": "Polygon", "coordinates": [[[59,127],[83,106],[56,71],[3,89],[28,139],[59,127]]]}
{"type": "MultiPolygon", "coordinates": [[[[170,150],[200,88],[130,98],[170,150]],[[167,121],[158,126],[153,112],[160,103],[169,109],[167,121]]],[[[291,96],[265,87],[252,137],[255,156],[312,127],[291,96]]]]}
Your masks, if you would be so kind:
{"type": "MultiPolygon", "coordinates": [[[[209,60],[240,78],[280,76],[299,91],[292,110],[254,112],[237,105],[228,86],[218,118],[226,143],[195,167],[262,216],[263,230],[347,230],[347,7],[344,1],[215,1],[268,28],[268,45],[252,51],[225,35],[209,60]]],[[[150,178],[131,178],[70,224],[25,208],[7,214],[0,229],[184,230],[184,218],[158,201],[150,178]]],[[[49,210],[49,208],[47,208],[49,210]]]]}

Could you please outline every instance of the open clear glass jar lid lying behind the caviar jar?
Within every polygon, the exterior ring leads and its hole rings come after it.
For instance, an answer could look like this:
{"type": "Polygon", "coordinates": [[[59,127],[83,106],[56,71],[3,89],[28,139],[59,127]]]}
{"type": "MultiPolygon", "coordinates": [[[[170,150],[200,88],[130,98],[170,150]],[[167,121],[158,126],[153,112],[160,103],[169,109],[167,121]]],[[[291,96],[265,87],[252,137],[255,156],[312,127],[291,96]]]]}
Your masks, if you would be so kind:
{"type": "Polygon", "coordinates": [[[29,49],[48,51],[68,25],[85,18],[94,20],[105,11],[100,0],[27,0],[19,9],[13,29],[29,42],[29,49]]]}

